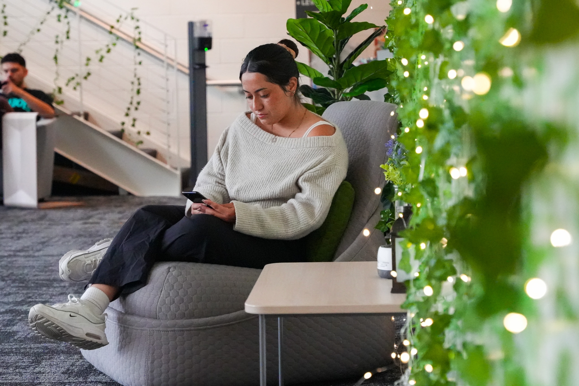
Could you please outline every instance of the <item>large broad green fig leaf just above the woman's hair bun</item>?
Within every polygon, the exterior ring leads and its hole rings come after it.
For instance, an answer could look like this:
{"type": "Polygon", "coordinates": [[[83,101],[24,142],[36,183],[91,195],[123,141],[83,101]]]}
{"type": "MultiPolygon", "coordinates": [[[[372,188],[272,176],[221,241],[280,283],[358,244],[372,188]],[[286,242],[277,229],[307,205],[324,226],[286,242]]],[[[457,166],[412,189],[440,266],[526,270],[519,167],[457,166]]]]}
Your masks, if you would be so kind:
{"type": "Polygon", "coordinates": [[[316,19],[288,19],[286,27],[292,38],[309,48],[324,63],[330,64],[329,58],[336,53],[334,32],[316,19]]]}

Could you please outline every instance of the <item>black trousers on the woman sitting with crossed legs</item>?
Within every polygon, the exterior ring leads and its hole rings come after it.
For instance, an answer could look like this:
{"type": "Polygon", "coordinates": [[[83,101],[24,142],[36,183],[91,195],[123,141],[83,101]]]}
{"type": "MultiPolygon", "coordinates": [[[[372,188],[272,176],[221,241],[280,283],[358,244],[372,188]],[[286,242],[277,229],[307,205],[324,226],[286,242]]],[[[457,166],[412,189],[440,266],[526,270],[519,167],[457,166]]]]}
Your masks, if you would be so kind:
{"type": "Polygon", "coordinates": [[[185,207],[146,205],[113,238],[91,284],[119,287],[119,295],[137,291],[155,262],[195,262],[262,269],[265,264],[303,262],[305,240],[269,240],[233,230],[206,214],[185,216],[185,207]]]}

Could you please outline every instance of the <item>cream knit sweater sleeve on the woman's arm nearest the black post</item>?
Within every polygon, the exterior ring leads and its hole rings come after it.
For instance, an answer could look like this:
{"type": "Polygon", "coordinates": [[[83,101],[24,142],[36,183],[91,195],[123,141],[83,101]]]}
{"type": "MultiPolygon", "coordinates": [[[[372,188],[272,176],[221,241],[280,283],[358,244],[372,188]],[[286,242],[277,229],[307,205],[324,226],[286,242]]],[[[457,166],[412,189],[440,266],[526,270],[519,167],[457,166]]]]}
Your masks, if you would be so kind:
{"type": "MultiPolygon", "coordinates": [[[[197,176],[195,188],[193,188],[196,192],[203,194],[203,196],[218,204],[229,203],[229,201],[231,201],[225,186],[225,167],[223,166],[223,152],[224,150],[226,151],[228,131],[229,128],[221,134],[215,152],[207,162],[206,166],[201,169],[199,176],[197,176]]],[[[192,201],[187,200],[185,206],[186,216],[190,216],[191,214],[191,204],[193,204],[192,201]]]]}

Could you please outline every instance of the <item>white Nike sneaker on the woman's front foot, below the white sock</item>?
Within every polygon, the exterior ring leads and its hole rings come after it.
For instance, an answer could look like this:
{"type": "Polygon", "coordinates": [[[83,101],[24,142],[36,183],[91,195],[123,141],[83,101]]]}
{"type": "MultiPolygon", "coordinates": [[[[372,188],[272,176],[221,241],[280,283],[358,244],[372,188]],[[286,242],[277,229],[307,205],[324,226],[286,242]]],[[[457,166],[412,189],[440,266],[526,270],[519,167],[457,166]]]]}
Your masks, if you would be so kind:
{"type": "Polygon", "coordinates": [[[68,302],[30,308],[28,323],[37,334],[70,343],[83,350],[94,350],[108,344],[105,335],[107,314],[95,315],[87,301],[68,295],[68,302]]]}

